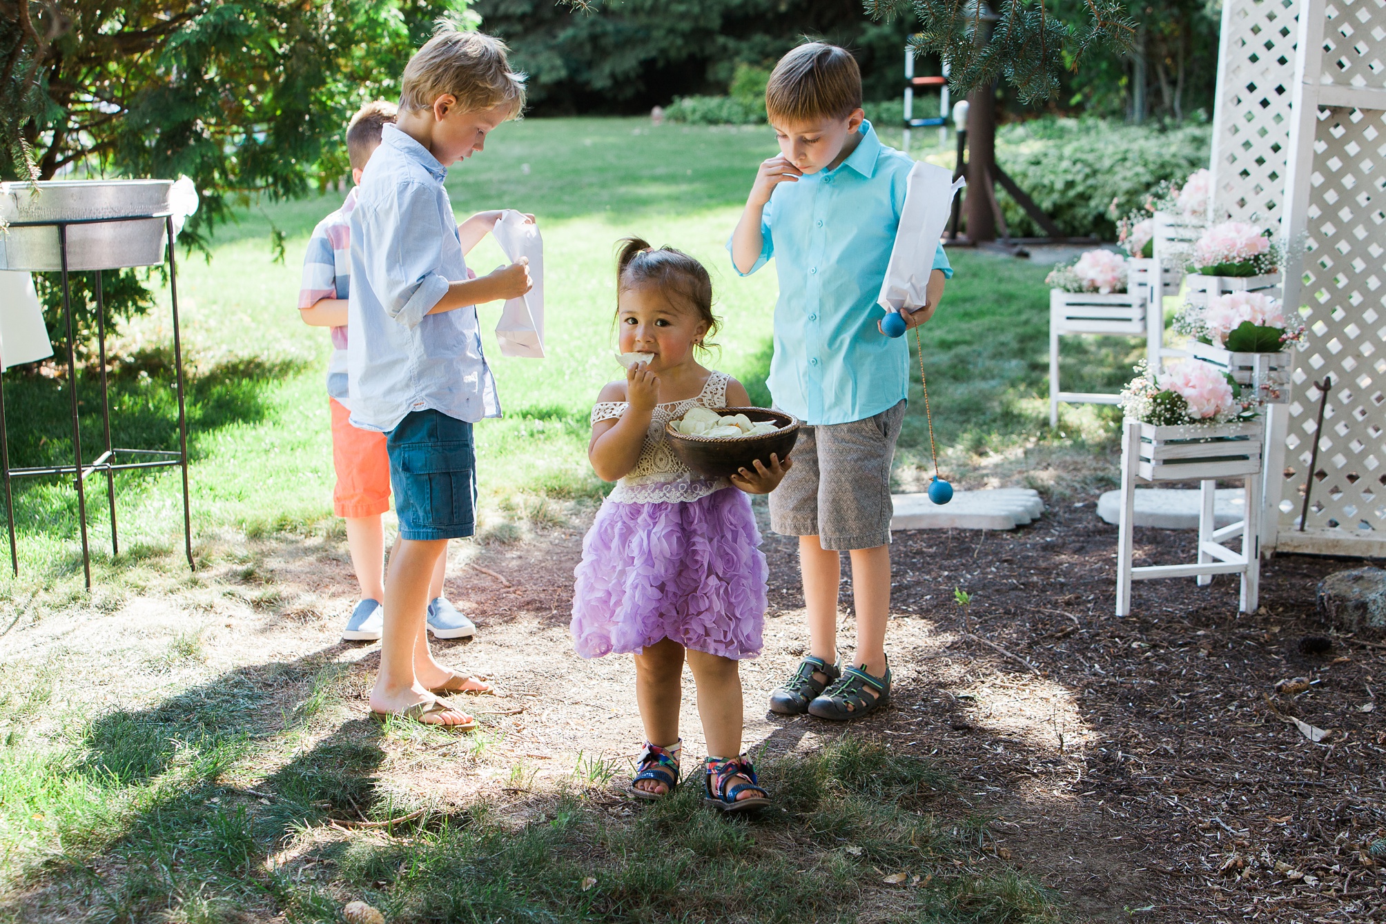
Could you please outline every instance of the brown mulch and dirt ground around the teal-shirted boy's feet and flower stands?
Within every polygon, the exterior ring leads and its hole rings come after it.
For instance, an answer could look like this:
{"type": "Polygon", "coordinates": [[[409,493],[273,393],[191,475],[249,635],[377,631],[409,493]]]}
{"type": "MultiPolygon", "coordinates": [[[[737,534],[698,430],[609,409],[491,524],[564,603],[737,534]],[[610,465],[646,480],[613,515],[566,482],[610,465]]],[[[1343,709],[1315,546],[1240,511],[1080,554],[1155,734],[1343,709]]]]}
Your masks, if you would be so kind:
{"type": "MultiPolygon", "coordinates": [[[[505,644],[507,623],[538,640],[535,616],[560,643],[579,536],[553,535],[539,553],[484,553],[477,561],[516,578],[511,587],[459,574],[457,596],[484,614],[475,654],[486,639],[505,644]]],[[[1135,540],[1138,564],[1193,557],[1193,532],[1146,529],[1135,540]]],[[[765,655],[743,662],[747,740],[787,751],[841,729],[761,712],[807,640],[794,543],[766,533],[765,549],[771,614],[765,655]]],[[[851,731],[940,765],[955,787],[936,812],[991,819],[987,849],[1053,888],[1076,917],[1380,917],[1386,856],[1368,849],[1386,838],[1386,730],[1374,711],[1386,650],[1329,637],[1314,612],[1318,580],[1360,562],[1275,557],[1256,614],[1238,614],[1235,578],[1138,582],[1132,615],[1117,619],[1114,549],[1116,528],[1091,501],[1051,507],[1015,532],[897,533],[894,701],[851,731]],[[973,596],[973,633],[1016,658],[963,637],[954,587],[973,596]],[[1296,677],[1307,688],[1277,691],[1296,677]],[[1328,734],[1308,740],[1296,718],[1328,734]]],[[[850,590],[844,569],[848,611],[850,590]]],[[[521,686],[553,688],[553,669],[520,647],[505,669],[521,686]]],[[[617,715],[633,701],[625,661],[586,662],[596,675],[559,680],[600,687],[582,697],[592,716],[570,722],[589,748],[639,747],[626,740],[639,726],[617,715]]],[[[686,743],[696,737],[685,731],[686,743]]]]}

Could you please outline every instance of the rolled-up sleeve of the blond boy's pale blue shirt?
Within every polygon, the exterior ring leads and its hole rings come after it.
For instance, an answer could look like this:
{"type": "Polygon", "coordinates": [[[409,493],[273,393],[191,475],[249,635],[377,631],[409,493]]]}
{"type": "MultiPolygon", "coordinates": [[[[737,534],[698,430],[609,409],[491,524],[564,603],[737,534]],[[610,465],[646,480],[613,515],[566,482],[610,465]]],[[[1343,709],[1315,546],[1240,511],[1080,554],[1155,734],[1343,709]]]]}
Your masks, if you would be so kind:
{"type": "Polygon", "coordinates": [[[438,272],[444,227],[437,191],[401,183],[391,209],[370,223],[376,241],[363,241],[370,285],[385,314],[414,328],[448,294],[450,280],[438,272]],[[376,244],[371,247],[371,244],[376,244]]]}

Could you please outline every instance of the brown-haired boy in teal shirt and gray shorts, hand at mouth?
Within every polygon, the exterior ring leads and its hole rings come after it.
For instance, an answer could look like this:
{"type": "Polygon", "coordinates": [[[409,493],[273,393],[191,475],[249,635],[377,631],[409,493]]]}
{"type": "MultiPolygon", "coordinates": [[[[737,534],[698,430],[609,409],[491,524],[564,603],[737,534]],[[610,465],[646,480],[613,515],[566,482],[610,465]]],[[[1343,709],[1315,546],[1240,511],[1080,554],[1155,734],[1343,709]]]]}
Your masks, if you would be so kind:
{"type": "MultiPolygon", "coordinates": [[[[802,44],[775,66],[765,108],[780,157],[761,163],[728,241],[737,273],[776,258],[775,405],[807,427],[794,467],[771,493],[771,526],[800,537],[809,654],[771,709],[855,719],[890,700],[890,465],[909,392],[909,345],[880,331],[876,303],[915,162],[876,137],[861,109],[861,72],[836,46],[802,44]],[[839,553],[852,562],[857,652],[837,662],[839,553]]],[[[933,316],[952,276],[940,247],[933,316]]]]}

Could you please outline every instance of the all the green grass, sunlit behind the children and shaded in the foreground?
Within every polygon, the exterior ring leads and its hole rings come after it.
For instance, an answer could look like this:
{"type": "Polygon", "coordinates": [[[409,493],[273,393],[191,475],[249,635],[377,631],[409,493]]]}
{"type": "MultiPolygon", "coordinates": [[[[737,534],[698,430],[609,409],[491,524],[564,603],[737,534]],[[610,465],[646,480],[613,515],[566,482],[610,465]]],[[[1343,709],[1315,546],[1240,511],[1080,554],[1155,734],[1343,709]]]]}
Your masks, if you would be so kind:
{"type": "MultiPolygon", "coordinates": [[[[482,540],[565,522],[603,495],[585,457],[586,421],[597,389],[618,371],[610,359],[618,237],[668,242],[707,263],[726,323],[714,364],[746,382],[754,399],[768,400],[775,276],[739,278],[723,242],[755,165],[773,150],[765,129],[527,121],[503,126],[484,154],[452,170],[448,187],[460,215],[498,206],[536,213],[549,274],[550,357],[492,360],[506,417],[477,428],[482,540]]],[[[328,342],[295,310],[308,233],[338,201],[331,194],[249,208],[219,230],[209,260],[180,263],[194,549],[201,565],[238,569],[243,582],[258,580],[248,551],[256,542],[309,536],[340,544],[322,381],[328,342]],[[283,263],[273,259],[272,227],[286,236],[283,263]]],[[[1109,478],[1109,410],[1076,410],[1060,432],[1044,425],[1048,266],[965,251],[951,256],[956,278],[924,337],[945,474],[963,486],[1031,483],[1055,496],[1109,478]]],[[[489,240],[470,258],[482,273],[500,262],[489,240]]],[[[488,348],[498,313],[499,306],[481,310],[488,348]]],[[[116,344],[116,445],[176,446],[168,341],[166,321],[151,314],[116,344]]],[[[1076,389],[1119,384],[1130,349],[1125,342],[1074,345],[1066,382],[1076,389]]],[[[14,464],[69,457],[65,387],[42,375],[6,377],[14,464]]],[[[80,398],[85,445],[96,446],[93,377],[80,378],[80,398]]],[[[913,400],[897,457],[905,488],[931,474],[922,410],[913,400]]],[[[104,488],[93,485],[98,556],[90,597],[80,592],[71,489],[57,482],[17,488],[21,576],[0,575],[10,628],[21,619],[111,612],[141,593],[211,593],[209,579],[182,562],[175,474],[118,481],[118,558],[104,544],[104,488]]],[[[258,593],[249,601],[256,610],[274,605],[273,586],[258,593]]],[[[159,657],[190,664],[200,646],[200,636],[179,634],[159,657]]],[[[49,889],[50,905],[71,900],[80,909],[73,914],[101,921],[258,920],[238,909],[269,906],[294,921],[338,920],[340,889],[320,887],[305,867],[297,878],[283,873],[274,856],[287,842],[302,846],[344,810],[371,820],[421,812],[398,831],[363,828],[324,859],[356,894],[417,920],[704,920],[737,913],[751,895],[760,920],[804,920],[804,909],[832,920],[829,909],[855,900],[872,864],[929,877],[913,898],[901,899],[905,918],[895,920],[1055,914],[1028,881],[970,871],[980,828],[944,827],[920,808],[948,780],[926,761],[869,745],[847,743],[768,767],[786,810],[760,833],[708,816],[693,794],[615,823],[584,795],[614,773],[592,762],[521,824],[491,817],[485,806],[459,813],[381,791],[373,776],[384,761],[380,747],[328,730],[335,727],[330,704],[348,683],[340,664],[301,659],[197,684],[169,680],[148,693],[150,702],[94,719],[71,705],[54,712],[46,693],[51,677],[35,670],[22,659],[0,659],[0,920],[25,920],[29,906],[3,896],[36,884],[49,889]],[[233,779],[258,780],[256,788],[231,787],[233,779]],[[259,802],[248,803],[251,797],[259,802]],[[847,831],[855,852],[834,848],[801,866],[796,844],[829,828],[847,831]],[[658,862],[626,860],[669,831],[678,831],[679,844],[658,862]],[[938,876],[931,887],[930,870],[938,876]],[[593,885],[585,885],[589,876],[593,885]]],[[[424,734],[395,729],[389,736],[416,733],[424,734]]],[[[478,751],[486,748],[484,736],[475,741],[478,751]]]]}

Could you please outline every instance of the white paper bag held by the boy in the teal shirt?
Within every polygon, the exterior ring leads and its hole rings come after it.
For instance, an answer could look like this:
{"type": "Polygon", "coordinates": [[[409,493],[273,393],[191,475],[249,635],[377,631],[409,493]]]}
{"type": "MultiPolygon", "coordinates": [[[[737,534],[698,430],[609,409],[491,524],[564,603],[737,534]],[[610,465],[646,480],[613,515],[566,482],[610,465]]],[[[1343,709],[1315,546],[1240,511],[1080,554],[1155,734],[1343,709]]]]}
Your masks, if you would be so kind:
{"type": "Polygon", "coordinates": [[[952,179],[952,170],[923,161],[909,172],[895,245],[876,299],[887,312],[913,312],[924,306],[938,238],[948,227],[952,199],[965,186],[963,177],[952,179]]]}

